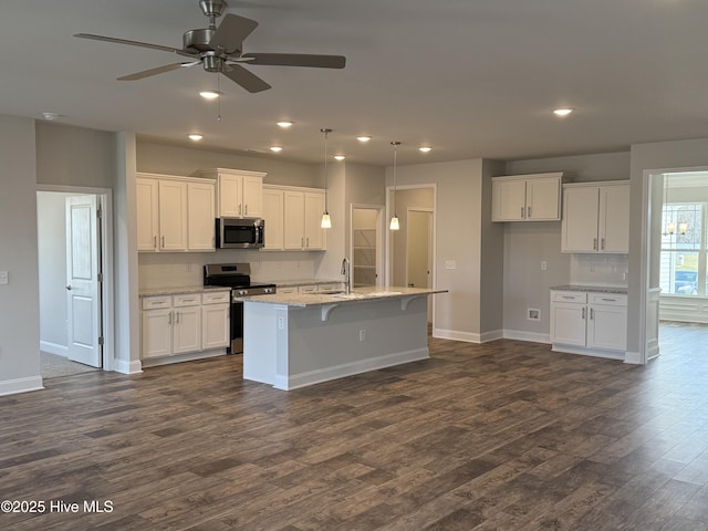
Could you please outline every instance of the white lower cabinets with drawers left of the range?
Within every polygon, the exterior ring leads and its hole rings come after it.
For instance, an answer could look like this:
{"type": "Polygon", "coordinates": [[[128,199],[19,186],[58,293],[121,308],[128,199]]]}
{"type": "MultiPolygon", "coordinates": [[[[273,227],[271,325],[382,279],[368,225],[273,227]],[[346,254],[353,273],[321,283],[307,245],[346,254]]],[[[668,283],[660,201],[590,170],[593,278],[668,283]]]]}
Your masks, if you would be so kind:
{"type": "Polygon", "coordinates": [[[144,296],[140,358],[228,346],[229,299],[229,291],[144,296]]]}

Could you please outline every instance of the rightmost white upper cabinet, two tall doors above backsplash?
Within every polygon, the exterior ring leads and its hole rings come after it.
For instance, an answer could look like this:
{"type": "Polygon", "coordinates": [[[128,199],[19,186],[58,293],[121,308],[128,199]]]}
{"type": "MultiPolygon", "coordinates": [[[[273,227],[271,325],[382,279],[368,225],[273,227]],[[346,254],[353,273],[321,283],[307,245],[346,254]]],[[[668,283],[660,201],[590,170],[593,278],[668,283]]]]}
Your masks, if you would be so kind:
{"type": "Polygon", "coordinates": [[[629,251],[629,181],[576,183],[563,187],[561,251],[629,251]]]}

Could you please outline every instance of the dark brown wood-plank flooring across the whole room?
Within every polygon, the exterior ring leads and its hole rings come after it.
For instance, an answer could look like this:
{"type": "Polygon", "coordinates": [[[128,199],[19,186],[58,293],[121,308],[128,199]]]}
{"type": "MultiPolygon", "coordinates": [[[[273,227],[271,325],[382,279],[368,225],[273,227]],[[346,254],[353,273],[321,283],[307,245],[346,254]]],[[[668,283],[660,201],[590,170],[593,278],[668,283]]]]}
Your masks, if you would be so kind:
{"type": "Polygon", "coordinates": [[[694,335],[646,367],[430,340],[429,361],[290,393],[239,356],[53,378],[0,397],[0,500],[46,504],[0,529],[705,531],[694,335]]]}

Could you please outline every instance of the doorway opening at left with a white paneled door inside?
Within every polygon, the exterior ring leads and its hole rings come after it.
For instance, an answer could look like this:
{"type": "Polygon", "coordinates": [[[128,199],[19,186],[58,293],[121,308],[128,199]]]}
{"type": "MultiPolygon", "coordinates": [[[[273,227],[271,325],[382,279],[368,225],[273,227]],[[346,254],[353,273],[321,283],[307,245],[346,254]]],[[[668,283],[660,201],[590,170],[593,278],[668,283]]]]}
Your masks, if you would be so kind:
{"type": "Polygon", "coordinates": [[[41,376],[113,369],[111,190],[37,192],[41,376]]]}

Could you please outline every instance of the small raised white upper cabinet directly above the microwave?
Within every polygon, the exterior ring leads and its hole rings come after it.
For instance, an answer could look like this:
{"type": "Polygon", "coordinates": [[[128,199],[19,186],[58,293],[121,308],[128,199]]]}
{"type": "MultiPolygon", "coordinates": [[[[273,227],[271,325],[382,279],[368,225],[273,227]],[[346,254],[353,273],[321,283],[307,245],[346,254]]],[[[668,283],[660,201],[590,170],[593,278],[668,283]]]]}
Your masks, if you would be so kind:
{"type": "Polygon", "coordinates": [[[200,170],[199,175],[217,179],[217,216],[219,218],[263,216],[264,173],[211,168],[200,170]]]}

